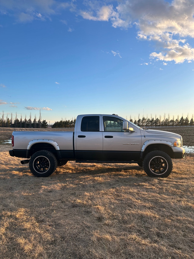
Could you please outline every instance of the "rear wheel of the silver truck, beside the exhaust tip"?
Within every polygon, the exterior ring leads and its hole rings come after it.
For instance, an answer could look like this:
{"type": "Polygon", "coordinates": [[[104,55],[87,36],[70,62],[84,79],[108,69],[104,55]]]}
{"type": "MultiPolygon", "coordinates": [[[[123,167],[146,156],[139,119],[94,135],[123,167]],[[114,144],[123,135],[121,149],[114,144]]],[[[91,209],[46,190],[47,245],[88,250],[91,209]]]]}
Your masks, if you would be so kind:
{"type": "Polygon", "coordinates": [[[41,150],[31,156],[29,168],[34,176],[47,177],[55,172],[57,159],[50,151],[41,150]]]}

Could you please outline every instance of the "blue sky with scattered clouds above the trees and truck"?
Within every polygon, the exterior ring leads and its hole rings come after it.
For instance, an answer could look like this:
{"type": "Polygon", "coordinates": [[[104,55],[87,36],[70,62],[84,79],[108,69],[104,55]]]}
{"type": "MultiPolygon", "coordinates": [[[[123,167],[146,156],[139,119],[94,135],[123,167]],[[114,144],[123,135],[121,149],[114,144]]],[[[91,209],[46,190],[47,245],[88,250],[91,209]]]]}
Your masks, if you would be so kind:
{"type": "Polygon", "coordinates": [[[194,1],[0,1],[0,116],[194,113],[194,1]]]}

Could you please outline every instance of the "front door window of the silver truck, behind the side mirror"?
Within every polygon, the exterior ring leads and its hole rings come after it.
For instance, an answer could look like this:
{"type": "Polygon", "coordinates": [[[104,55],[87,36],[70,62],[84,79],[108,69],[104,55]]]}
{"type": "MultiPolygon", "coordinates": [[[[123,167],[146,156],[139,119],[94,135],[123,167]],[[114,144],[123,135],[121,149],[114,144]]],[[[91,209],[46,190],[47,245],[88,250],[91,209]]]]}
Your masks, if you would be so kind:
{"type": "Polygon", "coordinates": [[[103,117],[104,131],[121,132],[122,123],[121,119],[115,117],[103,117]]]}

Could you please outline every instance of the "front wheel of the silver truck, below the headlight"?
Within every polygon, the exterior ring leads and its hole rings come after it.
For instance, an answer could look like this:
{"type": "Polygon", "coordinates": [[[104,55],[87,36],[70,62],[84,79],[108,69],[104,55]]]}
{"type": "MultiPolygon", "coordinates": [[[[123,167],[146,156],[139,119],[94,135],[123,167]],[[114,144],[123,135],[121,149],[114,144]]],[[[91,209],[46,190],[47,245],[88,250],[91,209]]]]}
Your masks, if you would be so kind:
{"type": "Polygon", "coordinates": [[[148,176],[167,177],[172,172],[172,159],[163,151],[149,152],[143,160],[143,169],[148,176]]]}

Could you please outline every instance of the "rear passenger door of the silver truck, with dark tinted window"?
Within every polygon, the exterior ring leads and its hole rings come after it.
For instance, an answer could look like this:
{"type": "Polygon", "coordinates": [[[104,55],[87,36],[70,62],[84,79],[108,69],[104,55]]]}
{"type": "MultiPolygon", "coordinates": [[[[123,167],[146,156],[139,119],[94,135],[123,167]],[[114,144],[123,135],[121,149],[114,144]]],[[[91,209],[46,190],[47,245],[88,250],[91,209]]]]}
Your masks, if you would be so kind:
{"type": "Polygon", "coordinates": [[[102,126],[101,116],[80,117],[75,133],[76,160],[102,160],[102,126]]]}

